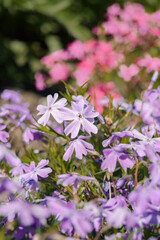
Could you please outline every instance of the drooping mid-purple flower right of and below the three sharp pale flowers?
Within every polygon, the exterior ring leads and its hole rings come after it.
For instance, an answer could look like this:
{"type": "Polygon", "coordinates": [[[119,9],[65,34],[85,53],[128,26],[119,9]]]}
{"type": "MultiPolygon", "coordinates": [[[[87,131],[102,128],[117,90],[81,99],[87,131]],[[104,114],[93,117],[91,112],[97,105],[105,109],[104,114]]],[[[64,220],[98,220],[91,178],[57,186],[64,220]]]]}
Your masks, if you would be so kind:
{"type": "Polygon", "coordinates": [[[125,171],[127,168],[132,168],[134,160],[128,156],[125,148],[127,148],[127,144],[119,144],[111,149],[103,150],[104,161],[102,162],[101,169],[104,170],[107,168],[109,172],[114,172],[117,160],[125,171]]]}

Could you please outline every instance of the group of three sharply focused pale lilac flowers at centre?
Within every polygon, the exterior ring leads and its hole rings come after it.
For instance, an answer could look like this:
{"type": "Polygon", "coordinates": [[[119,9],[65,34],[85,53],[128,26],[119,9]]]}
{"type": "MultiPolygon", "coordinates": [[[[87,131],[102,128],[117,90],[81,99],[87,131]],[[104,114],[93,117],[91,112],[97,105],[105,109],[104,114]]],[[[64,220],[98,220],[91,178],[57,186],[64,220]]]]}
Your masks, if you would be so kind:
{"type": "Polygon", "coordinates": [[[71,109],[65,107],[67,104],[65,98],[62,98],[55,103],[57,98],[57,93],[53,98],[49,95],[47,96],[47,106],[38,105],[38,115],[43,115],[38,120],[38,123],[46,125],[49,121],[50,114],[58,123],[64,122],[64,133],[66,136],[71,134],[71,141],[66,148],[63,158],[67,161],[71,158],[73,151],[75,150],[76,157],[82,159],[82,156],[86,156],[88,151],[94,150],[92,144],[83,139],[88,139],[91,133],[96,134],[98,132],[98,128],[94,124],[94,121],[96,117],[100,117],[100,114],[96,112],[93,105],[81,95],[77,97],[73,96],[74,101],[71,102],[71,109]],[[87,132],[89,135],[78,136],[80,131],[87,132]]]}

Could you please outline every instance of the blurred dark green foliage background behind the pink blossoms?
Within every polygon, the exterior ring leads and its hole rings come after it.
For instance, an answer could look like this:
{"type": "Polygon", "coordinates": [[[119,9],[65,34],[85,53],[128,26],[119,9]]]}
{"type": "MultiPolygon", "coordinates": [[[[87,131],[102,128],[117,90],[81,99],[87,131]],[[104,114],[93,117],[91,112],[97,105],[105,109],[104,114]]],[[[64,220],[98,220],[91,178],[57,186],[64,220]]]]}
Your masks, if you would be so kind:
{"type": "MultiPolygon", "coordinates": [[[[90,39],[115,2],[123,6],[127,1],[0,0],[0,90],[35,90],[40,58],[74,39],[90,39]]],[[[160,9],[160,0],[130,2],[143,4],[148,12],[160,9]]]]}

